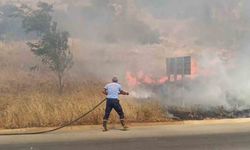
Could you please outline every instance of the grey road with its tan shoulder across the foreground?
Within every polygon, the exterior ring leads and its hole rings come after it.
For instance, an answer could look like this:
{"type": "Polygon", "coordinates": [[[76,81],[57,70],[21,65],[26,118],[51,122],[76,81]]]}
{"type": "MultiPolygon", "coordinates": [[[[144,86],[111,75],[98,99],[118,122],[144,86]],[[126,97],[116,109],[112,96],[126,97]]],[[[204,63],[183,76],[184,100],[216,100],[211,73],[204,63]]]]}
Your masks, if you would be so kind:
{"type": "Polygon", "coordinates": [[[250,123],[184,124],[0,137],[0,150],[249,150],[250,123]]]}

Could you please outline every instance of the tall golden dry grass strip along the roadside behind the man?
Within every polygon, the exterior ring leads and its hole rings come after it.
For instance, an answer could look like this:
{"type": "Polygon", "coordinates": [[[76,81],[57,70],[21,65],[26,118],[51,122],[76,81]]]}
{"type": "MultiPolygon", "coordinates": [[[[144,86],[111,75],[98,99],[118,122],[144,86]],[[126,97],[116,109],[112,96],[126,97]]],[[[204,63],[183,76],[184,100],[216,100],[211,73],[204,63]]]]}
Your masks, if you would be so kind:
{"type": "MultiPolygon", "coordinates": [[[[102,85],[102,84],[100,84],[102,85]]],[[[52,92],[21,92],[7,94],[0,98],[0,128],[48,127],[58,126],[77,118],[88,111],[104,96],[100,94],[101,86],[82,85],[75,92],[61,96],[52,92]]],[[[130,122],[162,121],[165,119],[164,109],[154,101],[138,102],[134,99],[121,98],[126,118],[130,122]]],[[[99,124],[104,114],[103,104],[77,124],[99,124]]],[[[117,122],[115,111],[111,114],[111,122],[117,122]]]]}

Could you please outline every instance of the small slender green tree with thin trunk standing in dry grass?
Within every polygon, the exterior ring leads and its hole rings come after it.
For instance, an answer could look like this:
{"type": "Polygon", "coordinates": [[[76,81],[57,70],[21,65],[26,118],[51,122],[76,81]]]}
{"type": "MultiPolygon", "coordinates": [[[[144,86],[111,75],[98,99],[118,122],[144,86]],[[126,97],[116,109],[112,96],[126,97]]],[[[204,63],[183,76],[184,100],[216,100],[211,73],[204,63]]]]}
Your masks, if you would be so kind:
{"type": "Polygon", "coordinates": [[[56,23],[37,43],[28,42],[31,51],[56,73],[59,92],[63,90],[63,76],[73,64],[73,55],[68,46],[69,33],[58,31],[56,23]]]}

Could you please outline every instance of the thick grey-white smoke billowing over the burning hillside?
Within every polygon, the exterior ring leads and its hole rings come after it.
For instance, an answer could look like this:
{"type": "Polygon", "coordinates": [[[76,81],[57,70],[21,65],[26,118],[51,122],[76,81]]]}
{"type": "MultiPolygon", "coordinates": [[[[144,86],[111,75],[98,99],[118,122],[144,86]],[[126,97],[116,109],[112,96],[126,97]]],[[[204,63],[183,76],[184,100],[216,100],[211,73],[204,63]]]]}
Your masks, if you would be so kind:
{"type": "Polygon", "coordinates": [[[157,97],[167,105],[242,108],[250,104],[249,1],[48,2],[54,3],[59,26],[71,34],[72,72],[79,77],[109,81],[116,75],[132,96],[157,97]],[[150,80],[165,79],[165,59],[187,55],[197,70],[177,87],[172,83],[127,84],[127,72],[134,76],[143,72],[150,80]]]}

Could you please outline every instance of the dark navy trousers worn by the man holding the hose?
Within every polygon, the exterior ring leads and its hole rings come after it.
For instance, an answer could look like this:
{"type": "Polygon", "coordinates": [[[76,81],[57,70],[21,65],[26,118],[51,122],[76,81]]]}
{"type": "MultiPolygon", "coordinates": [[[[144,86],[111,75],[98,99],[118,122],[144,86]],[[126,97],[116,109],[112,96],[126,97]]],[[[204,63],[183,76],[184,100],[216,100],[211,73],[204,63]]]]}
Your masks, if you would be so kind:
{"type": "Polygon", "coordinates": [[[109,119],[110,112],[112,111],[113,108],[115,109],[117,114],[120,116],[120,120],[124,119],[124,113],[122,110],[122,106],[119,103],[119,100],[118,99],[107,99],[105,115],[103,117],[104,121],[107,121],[109,119]]]}

